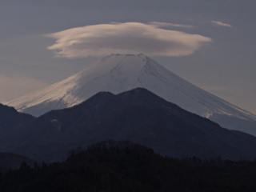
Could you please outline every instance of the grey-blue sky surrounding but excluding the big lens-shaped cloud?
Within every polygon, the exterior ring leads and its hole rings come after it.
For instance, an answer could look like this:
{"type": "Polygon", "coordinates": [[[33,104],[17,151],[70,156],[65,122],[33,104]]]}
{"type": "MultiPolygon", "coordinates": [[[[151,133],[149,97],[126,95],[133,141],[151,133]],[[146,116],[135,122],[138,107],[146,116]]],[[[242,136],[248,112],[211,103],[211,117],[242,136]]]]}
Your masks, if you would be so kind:
{"type": "Polygon", "coordinates": [[[112,22],[158,22],[162,29],[199,34],[212,41],[194,54],[152,58],[195,85],[256,113],[255,8],[254,0],[3,0],[0,102],[62,80],[102,58],[56,58],[53,50],[47,50],[56,39],[45,34],[112,22]],[[161,26],[165,22],[174,25],[161,26]]]}

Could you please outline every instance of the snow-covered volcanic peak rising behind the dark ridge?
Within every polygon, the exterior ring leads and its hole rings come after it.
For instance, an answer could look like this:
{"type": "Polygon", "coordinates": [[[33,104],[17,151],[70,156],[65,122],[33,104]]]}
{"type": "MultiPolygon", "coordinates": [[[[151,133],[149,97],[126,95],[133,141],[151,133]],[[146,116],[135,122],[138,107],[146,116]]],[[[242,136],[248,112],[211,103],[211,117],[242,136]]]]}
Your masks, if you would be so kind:
{"type": "Polygon", "coordinates": [[[101,91],[119,94],[137,87],[230,130],[256,135],[255,114],[194,86],[144,54],[110,54],[70,78],[6,105],[40,116],[50,110],[77,105],[101,91]]]}

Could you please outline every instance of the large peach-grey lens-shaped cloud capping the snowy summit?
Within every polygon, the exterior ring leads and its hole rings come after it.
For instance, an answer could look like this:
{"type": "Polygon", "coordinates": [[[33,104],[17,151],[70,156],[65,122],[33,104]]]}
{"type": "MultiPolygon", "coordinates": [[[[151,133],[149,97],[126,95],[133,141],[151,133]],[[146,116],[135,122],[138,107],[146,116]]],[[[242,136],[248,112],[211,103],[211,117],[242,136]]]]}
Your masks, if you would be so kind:
{"type": "Polygon", "coordinates": [[[203,43],[211,41],[199,34],[164,30],[139,22],[82,26],[46,36],[56,39],[48,49],[62,58],[98,57],[113,53],[184,56],[193,54],[203,43]]]}

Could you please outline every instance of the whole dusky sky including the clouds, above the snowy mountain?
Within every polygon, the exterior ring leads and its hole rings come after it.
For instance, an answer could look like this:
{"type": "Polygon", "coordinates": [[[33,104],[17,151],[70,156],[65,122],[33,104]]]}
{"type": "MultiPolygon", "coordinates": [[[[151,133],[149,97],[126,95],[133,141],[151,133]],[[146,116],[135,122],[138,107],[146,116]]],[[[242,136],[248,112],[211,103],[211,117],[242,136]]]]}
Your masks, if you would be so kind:
{"type": "Polygon", "coordinates": [[[255,0],[2,0],[0,102],[105,54],[144,53],[256,114],[255,8],[255,0]]]}

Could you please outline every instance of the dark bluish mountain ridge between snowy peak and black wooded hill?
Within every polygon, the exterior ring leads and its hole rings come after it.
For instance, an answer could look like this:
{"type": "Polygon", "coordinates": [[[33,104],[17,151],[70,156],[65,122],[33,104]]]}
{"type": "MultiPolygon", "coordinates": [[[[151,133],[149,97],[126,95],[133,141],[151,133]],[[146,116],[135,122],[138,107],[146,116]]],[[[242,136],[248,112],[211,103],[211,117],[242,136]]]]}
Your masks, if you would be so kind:
{"type": "Polygon", "coordinates": [[[226,130],[137,88],[101,92],[63,110],[52,110],[0,135],[0,150],[38,161],[60,161],[78,146],[114,139],[130,140],[174,158],[256,158],[256,138],[226,130]]]}

